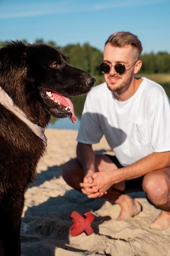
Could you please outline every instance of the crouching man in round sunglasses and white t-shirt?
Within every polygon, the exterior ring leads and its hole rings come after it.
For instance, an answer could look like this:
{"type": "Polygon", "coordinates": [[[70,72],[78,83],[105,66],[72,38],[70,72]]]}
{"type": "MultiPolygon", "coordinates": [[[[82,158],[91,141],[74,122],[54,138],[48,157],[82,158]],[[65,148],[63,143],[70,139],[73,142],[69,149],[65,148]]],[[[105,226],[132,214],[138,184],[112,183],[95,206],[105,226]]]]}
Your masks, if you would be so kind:
{"type": "Polygon", "coordinates": [[[67,162],[64,180],[88,198],[121,207],[118,220],[141,211],[127,195],[144,190],[162,209],[151,228],[170,227],[170,104],[163,88],[135,78],[142,62],[137,36],[116,32],[106,41],[100,65],[105,83],[88,93],[77,137],[77,159],[67,162]],[[95,155],[92,144],[105,135],[115,156],[95,155]]]}

